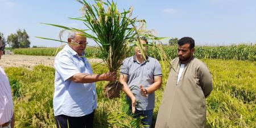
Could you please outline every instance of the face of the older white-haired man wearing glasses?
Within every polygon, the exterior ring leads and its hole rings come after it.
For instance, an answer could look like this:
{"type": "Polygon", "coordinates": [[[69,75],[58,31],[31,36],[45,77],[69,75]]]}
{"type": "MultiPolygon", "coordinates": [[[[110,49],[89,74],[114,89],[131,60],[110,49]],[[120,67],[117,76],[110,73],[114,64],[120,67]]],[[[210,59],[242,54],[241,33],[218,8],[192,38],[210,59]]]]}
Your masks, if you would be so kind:
{"type": "Polygon", "coordinates": [[[69,46],[78,53],[79,56],[84,53],[84,50],[86,48],[87,42],[86,38],[84,36],[76,35],[75,39],[68,39],[68,42],[71,42],[73,44],[69,44],[69,46]]]}

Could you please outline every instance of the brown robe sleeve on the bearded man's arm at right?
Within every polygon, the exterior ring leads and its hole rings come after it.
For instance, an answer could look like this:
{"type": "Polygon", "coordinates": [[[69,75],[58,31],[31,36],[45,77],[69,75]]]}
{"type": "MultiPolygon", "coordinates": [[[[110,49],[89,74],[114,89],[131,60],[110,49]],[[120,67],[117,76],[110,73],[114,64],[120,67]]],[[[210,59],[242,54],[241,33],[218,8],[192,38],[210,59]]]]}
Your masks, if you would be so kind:
{"type": "Polygon", "coordinates": [[[210,71],[205,64],[201,64],[199,69],[199,77],[200,77],[200,86],[204,92],[205,98],[210,95],[212,92],[212,76],[210,75],[210,71]]]}

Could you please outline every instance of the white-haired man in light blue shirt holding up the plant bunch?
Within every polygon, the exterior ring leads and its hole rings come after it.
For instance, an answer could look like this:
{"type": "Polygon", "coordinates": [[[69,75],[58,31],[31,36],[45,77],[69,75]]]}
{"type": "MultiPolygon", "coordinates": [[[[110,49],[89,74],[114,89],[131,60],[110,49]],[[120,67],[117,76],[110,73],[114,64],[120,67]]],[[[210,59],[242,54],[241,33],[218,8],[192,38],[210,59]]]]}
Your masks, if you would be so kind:
{"type": "Polygon", "coordinates": [[[97,81],[114,81],[116,72],[93,74],[88,60],[83,57],[86,38],[71,31],[69,44],[55,57],[55,92],[53,110],[57,128],[93,127],[94,109],[97,108],[97,81]]]}

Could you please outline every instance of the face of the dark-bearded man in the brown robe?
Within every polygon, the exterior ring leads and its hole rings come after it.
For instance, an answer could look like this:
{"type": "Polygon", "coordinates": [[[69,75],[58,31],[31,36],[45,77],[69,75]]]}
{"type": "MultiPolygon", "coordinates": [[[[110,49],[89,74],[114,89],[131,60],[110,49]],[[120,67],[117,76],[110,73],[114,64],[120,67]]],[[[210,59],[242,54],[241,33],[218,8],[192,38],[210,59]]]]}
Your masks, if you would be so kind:
{"type": "Polygon", "coordinates": [[[178,45],[177,53],[180,61],[187,61],[193,55],[195,49],[194,48],[190,49],[189,46],[190,45],[188,43],[183,44],[183,46],[178,45]]]}

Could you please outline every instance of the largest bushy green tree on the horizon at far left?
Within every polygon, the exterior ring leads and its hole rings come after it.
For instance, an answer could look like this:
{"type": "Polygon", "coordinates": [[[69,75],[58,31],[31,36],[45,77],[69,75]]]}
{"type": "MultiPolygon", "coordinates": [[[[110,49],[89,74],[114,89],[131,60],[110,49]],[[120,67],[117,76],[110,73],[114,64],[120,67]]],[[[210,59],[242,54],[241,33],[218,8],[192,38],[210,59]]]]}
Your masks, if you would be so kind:
{"type": "Polygon", "coordinates": [[[7,37],[7,43],[12,48],[28,48],[30,47],[30,40],[26,30],[21,31],[20,29],[16,34],[11,34],[7,37]]]}

